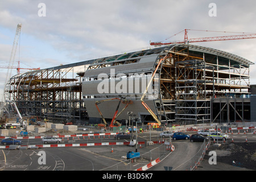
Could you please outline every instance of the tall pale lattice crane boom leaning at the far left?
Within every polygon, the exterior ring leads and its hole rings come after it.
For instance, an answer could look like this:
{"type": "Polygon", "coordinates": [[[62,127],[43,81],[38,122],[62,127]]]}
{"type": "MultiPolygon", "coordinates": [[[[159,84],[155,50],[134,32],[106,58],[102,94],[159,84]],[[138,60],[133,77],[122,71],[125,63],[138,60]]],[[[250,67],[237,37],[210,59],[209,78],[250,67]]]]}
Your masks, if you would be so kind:
{"type": "Polygon", "coordinates": [[[22,24],[19,23],[17,24],[17,27],[16,27],[16,34],[15,34],[15,37],[14,37],[14,42],[13,42],[13,48],[11,49],[11,56],[10,56],[10,61],[9,61],[9,66],[8,66],[8,69],[7,69],[7,74],[6,74],[6,78],[5,78],[5,85],[4,85],[4,94],[1,94],[1,106],[0,106],[0,114],[2,113],[3,111],[3,106],[5,104],[5,100],[9,100],[9,94],[7,93],[8,90],[9,90],[9,85],[7,84],[7,82],[10,80],[11,78],[11,67],[13,67],[13,63],[14,63],[14,59],[15,59],[15,55],[16,55],[16,49],[17,49],[17,46],[18,46],[18,42],[19,42],[19,38],[20,38],[20,30],[22,28],[22,24]]]}

